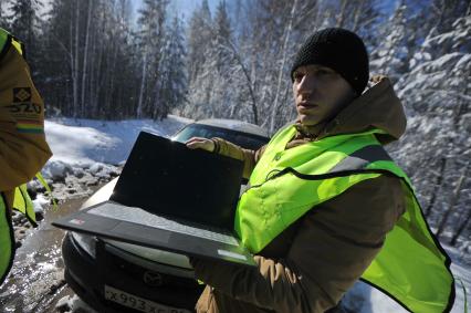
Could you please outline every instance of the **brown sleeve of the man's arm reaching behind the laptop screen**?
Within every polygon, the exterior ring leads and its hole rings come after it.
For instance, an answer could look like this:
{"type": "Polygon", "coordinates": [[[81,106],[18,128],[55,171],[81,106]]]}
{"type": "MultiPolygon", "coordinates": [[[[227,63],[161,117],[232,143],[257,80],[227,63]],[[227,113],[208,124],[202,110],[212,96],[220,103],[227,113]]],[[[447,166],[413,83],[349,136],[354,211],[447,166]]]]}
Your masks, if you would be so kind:
{"type": "Polygon", "coordinates": [[[216,148],[214,153],[237,158],[243,161],[243,178],[249,178],[252,173],[255,164],[259,161],[263,152],[265,150],[266,145],[262,146],[258,150],[250,150],[239,147],[228,140],[224,140],[219,137],[211,138],[214,142],[216,148]]]}

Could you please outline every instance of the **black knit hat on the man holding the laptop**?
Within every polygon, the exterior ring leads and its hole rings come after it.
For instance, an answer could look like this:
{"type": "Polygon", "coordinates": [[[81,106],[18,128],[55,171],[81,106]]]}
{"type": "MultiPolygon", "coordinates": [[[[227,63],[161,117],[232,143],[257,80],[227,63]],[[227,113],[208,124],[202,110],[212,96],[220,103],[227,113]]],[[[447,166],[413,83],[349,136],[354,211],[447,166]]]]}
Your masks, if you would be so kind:
{"type": "Polygon", "coordinates": [[[369,77],[368,53],[362,39],[345,29],[331,28],[312,34],[294,58],[291,79],[302,65],[320,64],[341,74],[358,95],[369,77]]]}

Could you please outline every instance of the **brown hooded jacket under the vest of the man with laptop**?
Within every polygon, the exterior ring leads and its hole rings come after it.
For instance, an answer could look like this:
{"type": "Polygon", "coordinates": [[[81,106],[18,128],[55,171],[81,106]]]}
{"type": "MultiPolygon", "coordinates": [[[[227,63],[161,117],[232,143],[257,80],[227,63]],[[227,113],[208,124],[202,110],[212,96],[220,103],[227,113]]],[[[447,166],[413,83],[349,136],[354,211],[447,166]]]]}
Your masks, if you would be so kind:
{"type": "MultiPolygon", "coordinates": [[[[387,79],[350,103],[317,136],[299,125],[286,148],[371,126],[400,137],[406,119],[387,79]]],[[[263,153],[217,139],[219,153],[243,159],[248,176],[263,153]]],[[[192,260],[196,277],[208,285],[198,312],[325,312],[341,300],[381,249],[385,236],[405,211],[398,178],[383,175],[359,182],[308,211],[259,255],[258,268],[192,260]]]]}

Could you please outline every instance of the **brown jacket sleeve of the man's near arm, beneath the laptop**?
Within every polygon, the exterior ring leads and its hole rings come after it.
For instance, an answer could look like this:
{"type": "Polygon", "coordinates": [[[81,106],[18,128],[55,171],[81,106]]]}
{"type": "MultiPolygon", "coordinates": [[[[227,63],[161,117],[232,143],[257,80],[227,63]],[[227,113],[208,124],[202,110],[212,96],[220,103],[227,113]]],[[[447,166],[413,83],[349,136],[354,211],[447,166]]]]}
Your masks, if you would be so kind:
{"type": "Polygon", "coordinates": [[[226,299],[276,312],[324,312],[368,268],[404,206],[398,178],[368,179],[299,220],[284,258],[257,255],[252,269],[192,260],[195,272],[226,299]]]}

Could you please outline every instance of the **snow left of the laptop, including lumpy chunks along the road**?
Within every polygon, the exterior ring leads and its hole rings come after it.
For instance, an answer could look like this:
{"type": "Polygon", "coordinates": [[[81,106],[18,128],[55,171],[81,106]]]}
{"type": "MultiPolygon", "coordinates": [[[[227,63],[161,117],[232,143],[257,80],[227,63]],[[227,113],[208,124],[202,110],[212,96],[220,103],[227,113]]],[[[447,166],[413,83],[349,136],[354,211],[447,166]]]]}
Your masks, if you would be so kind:
{"type": "MultiPolygon", "coordinates": [[[[171,136],[190,119],[169,116],[161,122],[128,119],[101,122],[92,119],[61,118],[45,122],[46,139],[53,152],[42,170],[44,178],[54,187],[54,197],[87,196],[91,186],[107,181],[121,171],[122,165],[140,131],[171,136]]],[[[31,188],[41,188],[38,181],[31,188]]],[[[34,201],[41,210],[44,197],[34,201]]]]}

